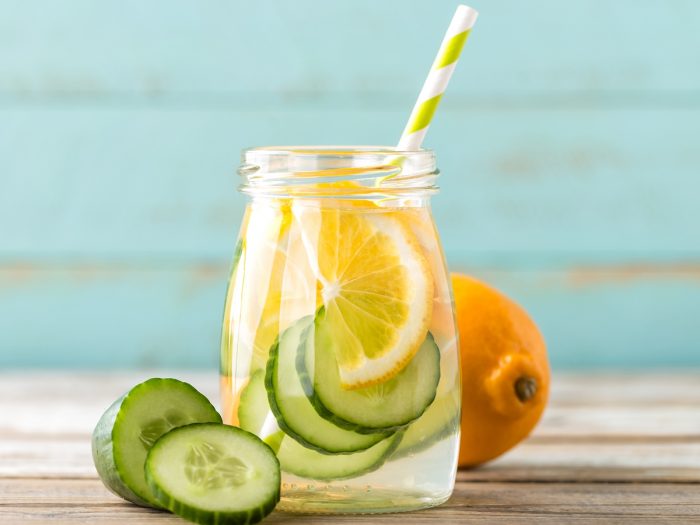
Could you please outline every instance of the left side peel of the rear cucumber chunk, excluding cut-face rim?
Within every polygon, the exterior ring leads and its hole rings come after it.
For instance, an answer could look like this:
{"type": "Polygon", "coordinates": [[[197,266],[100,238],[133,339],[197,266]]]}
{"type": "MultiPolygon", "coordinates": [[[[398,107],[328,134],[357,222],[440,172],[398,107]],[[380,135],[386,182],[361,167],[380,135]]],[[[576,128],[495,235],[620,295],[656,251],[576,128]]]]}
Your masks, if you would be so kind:
{"type": "Polygon", "coordinates": [[[97,426],[92,433],[92,460],[102,483],[111,493],[127,501],[136,503],[137,505],[141,505],[142,507],[157,509],[160,507],[156,503],[146,501],[140,496],[137,496],[126,486],[114,463],[112,429],[114,428],[114,422],[126,396],[127,394],[124,394],[112,403],[97,422],[97,426]]]}

